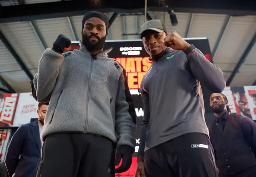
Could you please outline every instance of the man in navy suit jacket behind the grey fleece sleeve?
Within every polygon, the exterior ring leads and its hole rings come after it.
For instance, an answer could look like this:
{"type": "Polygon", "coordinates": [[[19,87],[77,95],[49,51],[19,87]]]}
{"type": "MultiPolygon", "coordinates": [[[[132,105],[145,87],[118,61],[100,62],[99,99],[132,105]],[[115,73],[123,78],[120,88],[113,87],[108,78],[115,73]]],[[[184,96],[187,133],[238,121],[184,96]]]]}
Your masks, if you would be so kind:
{"type": "Polygon", "coordinates": [[[5,157],[9,177],[36,177],[42,147],[40,133],[47,109],[48,103],[39,103],[38,121],[22,125],[14,133],[5,157]]]}

